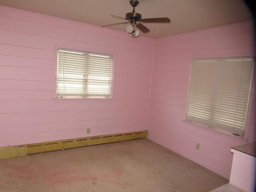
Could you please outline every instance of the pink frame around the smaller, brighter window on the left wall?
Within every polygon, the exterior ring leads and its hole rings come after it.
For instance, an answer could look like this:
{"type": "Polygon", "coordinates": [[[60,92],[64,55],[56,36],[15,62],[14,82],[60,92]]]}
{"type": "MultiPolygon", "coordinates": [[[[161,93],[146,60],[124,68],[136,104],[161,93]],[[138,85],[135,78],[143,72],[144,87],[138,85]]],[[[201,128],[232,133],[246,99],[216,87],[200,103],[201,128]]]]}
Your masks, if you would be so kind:
{"type": "Polygon", "coordinates": [[[108,52],[108,51],[102,51],[101,49],[95,49],[95,48],[88,48],[88,47],[76,47],[76,46],[70,46],[70,45],[58,45],[55,44],[55,58],[54,58],[54,95],[52,99],[54,100],[80,100],[80,99],[113,99],[114,94],[114,63],[115,63],[115,58],[116,58],[116,53],[113,52],[108,52]],[[111,94],[109,97],[104,97],[104,96],[87,96],[87,97],[82,97],[82,96],[66,96],[63,98],[57,97],[58,93],[58,49],[63,49],[63,50],[73,50],[77,52],[86,52],[86,53],[92,53],[92,54],[101,54],[101,55],[110,55],[112,56],[112,74],[111,74],[111,94]],[[85,51],[85,50],[90,50],[90,51],[85,51]]]}

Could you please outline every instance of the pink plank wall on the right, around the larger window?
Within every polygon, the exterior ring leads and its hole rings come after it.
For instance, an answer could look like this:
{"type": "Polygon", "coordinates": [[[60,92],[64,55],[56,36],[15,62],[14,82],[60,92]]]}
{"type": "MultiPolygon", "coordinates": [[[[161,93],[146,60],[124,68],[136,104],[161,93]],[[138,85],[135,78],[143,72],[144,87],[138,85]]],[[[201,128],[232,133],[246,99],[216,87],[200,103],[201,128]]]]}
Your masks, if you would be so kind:
{"type": "Polygon", "coordinates": [[[183,121],[190,66],[192,58],[254,56],[253,34],[252,24],[241,22],[156,40],[148,124],[150,140],[229,178],[230,147],[256,140],[255,84],[246,124],[247,141],[183,121]],[[196,150],[196,143],[200,143],[200,150],[196,150]]]}

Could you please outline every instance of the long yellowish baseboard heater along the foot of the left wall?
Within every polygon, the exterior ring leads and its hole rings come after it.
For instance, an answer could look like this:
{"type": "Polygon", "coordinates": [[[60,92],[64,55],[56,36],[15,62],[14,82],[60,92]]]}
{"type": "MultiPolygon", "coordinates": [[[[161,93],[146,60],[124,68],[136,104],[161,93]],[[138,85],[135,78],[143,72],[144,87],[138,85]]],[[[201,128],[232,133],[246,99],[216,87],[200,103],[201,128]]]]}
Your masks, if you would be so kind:
{"type": "Polygon", "coordinates": [[[76,139],[43,142],[43,143],[0,147],[0,159],[12,158],[17,156],[26,156],[28,154],[63,150],[63,149],[104,144],[104,143],[142,139],[142,138],[146,138],[147,134],[148,134],[148,131],[144,130],[144,131],[137,131],[137,132],[121,133],[121,134],[111,134],[111,135],[84,137],[84,138],[76,138],[76,139]]]}

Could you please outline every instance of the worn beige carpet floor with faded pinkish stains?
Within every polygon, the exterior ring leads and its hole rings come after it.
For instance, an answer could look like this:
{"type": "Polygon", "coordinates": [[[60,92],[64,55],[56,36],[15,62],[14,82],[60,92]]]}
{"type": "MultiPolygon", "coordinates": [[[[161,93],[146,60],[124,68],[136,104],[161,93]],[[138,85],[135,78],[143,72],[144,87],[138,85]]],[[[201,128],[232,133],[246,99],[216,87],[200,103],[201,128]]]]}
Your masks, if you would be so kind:
{"type": "Polygon", "coordinates": [[[226,183],[148,139],[0,160],[0,192],[208,192],[226,183]]]}

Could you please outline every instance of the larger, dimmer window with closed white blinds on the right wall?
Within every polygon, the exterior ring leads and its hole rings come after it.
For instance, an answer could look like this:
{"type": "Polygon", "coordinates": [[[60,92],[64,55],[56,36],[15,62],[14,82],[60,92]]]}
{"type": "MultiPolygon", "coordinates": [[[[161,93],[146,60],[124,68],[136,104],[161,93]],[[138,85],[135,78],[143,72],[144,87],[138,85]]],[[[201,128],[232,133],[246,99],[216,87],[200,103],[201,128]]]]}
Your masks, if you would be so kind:
{"type": "Polygon", "coordinates": [[[192,60],[186,120],[243,136],[254,58],[192,60]]]}

